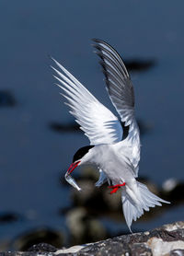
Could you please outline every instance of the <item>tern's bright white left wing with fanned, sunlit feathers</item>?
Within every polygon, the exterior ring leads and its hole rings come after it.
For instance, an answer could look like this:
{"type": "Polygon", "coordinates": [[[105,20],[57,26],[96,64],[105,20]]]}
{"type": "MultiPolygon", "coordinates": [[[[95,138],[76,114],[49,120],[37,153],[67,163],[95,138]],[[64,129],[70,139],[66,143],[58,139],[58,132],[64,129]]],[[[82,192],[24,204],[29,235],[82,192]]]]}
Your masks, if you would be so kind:
{"type": "Polygon", "coordinates": [[[76,122],[89,138],[91,145],[114,144],[122,139],[122,128],[118,118],[96,99],[63,65],[52,58],[59,71],[52,67],[54,76],[63,89],[65,102],[76,122]],[[64,74],[64,75],[63,75],[64,74]]]}

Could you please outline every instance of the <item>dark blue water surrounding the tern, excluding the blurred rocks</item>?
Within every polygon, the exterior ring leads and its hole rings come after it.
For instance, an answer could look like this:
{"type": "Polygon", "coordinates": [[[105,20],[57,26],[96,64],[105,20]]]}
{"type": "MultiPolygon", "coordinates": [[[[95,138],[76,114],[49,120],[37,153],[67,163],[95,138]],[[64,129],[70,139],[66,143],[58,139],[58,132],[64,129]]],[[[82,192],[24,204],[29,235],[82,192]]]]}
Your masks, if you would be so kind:
{"type": "MultiPolygon", "coordinates": [[[[132,73],[136,116],[152,127],[142,138],[140,173],[158,185],[170,177],[183,179],[183,7],[181,0],[0,2],[0,89],[17,102],[0,108],[0,212],[27,216],[1,225],[0,239],[40,225],[65,227],[56,212],[70,205],[69,188],[59,177],[88,141],[83,134],[50,129],[51,122],[73,117],[53,86],[48,54],[114,111],[90,46],[94,37],[125,59],[155,60],[152,69],[132,73]]],[[[171,208],[144,228],[180,220],[182,213],[171,208]]]]}

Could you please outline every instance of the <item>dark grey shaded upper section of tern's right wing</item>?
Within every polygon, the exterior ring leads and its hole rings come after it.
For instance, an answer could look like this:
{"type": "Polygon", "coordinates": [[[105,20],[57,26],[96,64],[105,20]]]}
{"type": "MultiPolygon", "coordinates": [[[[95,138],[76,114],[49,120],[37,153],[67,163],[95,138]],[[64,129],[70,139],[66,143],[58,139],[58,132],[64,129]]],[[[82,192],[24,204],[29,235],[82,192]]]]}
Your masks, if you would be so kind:
{"type": "Polygon", "coordinates": [[[121,122],[130,125],[134,112],[132,81],[121,60],[121,56],[107,42],[94,39],[94,47],[101,58],[101,66],[106,77],[109,98],[121,116],[121,122]]]}

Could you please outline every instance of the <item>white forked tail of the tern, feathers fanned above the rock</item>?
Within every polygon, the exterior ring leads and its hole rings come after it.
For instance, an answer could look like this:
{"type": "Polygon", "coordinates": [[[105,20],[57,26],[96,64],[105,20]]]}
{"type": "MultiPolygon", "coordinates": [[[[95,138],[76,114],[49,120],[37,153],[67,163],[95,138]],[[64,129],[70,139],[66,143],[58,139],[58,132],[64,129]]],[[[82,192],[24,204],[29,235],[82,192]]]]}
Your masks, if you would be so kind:
{"type": "Polygon", "coordinates": [[[150,192],[148,188],[137,181],[137,193],[136,203],[132,199],[131,193],[126,190],[122,190],[121,201],[123,214],[127,223],[127,226],[131,230],[132,220],[136,220],[141,215],[144,215],[144,211],[149,211],[150,207],[155,207],[155,205],[162,206],[161,203],[170,204],[169,202],[159,198],[153,192],[150,192]],[[161,202],[161,203],[160,203],[161,202]]]}

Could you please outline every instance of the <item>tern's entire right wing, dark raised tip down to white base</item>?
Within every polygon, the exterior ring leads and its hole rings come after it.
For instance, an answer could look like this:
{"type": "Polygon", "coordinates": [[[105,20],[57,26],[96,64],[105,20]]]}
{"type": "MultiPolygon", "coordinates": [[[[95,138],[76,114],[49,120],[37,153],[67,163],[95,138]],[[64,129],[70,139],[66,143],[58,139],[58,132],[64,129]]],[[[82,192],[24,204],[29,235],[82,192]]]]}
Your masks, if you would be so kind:
{"type": "MultiPolygon", "coordinates": [[[[135,176],[138,173],[138,163],[140,160],[140,135],[137,122],[134,118],[134,93],[132,81],[121,56],[107,42],[94,39],[94,47],[98,50],[97,54],[101,61],[106,77],[106,85],[109,98],[115,109],[121,116],[121,122],[125,126],[129,125],[129,134],[126,143],[132,147],[132,165],[134,166],[135,176]]],[[[122,149],[123,150],[123,149],[122,149]]]]}

